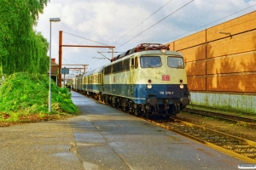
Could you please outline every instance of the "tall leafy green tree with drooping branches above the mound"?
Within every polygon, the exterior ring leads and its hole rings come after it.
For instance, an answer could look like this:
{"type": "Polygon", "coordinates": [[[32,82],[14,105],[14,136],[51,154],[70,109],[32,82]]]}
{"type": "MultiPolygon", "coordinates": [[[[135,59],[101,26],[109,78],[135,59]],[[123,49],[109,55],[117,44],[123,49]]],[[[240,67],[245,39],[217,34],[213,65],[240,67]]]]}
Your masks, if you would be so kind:
{"type": "Polygon", "coordinates": [[[33,31],[48,0],[0,1],[0,73],[47,73],[49,43],[33,31]]]}

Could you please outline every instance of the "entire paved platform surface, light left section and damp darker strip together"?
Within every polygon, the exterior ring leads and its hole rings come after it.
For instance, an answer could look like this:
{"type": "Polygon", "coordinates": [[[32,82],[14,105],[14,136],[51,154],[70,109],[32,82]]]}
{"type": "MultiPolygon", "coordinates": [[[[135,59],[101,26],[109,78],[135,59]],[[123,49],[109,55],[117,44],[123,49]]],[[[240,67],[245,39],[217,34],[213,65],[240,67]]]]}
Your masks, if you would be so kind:
{"type": "Polygon", "coordinates": [[[72,92],[82,114],[0,127],[2,169],[238,169],[244,163],[72,92]]]}

